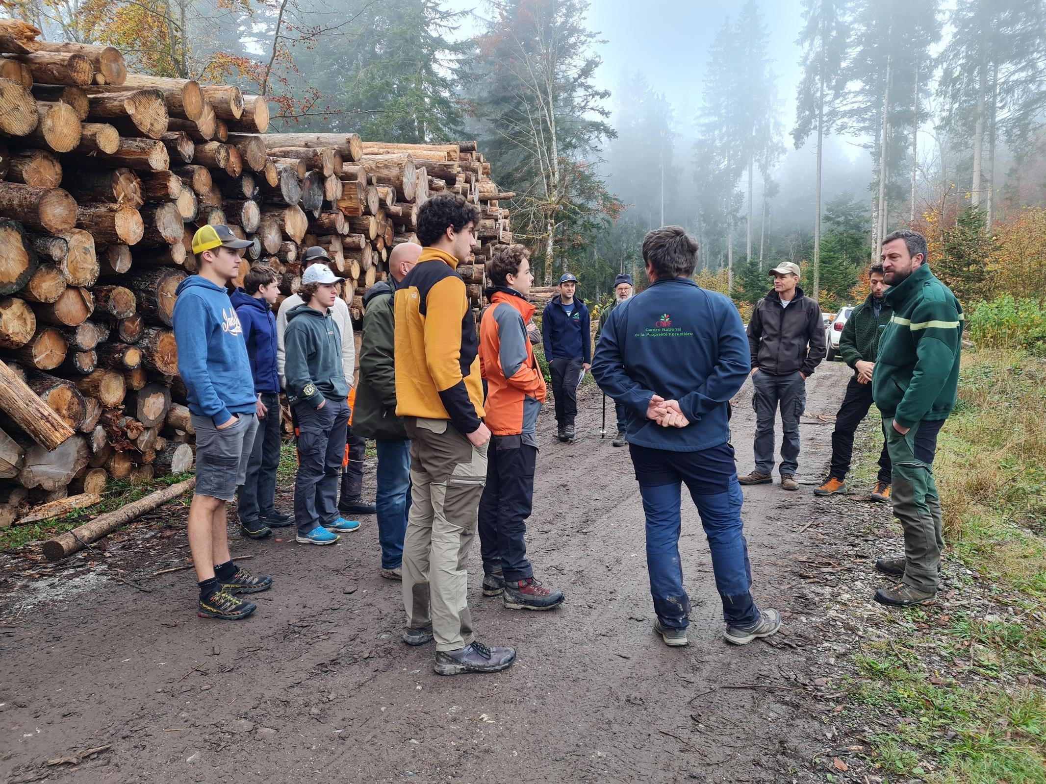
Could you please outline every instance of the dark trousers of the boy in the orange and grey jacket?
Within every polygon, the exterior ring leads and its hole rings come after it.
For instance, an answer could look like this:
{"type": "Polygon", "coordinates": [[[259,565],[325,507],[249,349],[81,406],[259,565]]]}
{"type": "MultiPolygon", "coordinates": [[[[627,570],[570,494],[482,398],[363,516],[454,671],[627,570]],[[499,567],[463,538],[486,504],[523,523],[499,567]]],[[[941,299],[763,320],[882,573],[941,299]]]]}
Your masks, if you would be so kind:
{"type": "Polygon", "coordinates": [[[537,462],[538,447],[522,443],[522,436],[491,438],[486,486],[479,501],[479,553],[486,574],[500,567],[506,580],[533,577],[524,537],[537,462]]]}

